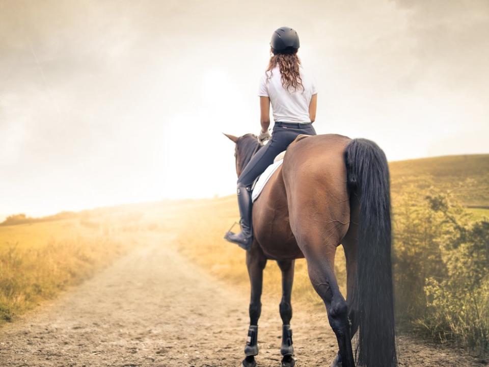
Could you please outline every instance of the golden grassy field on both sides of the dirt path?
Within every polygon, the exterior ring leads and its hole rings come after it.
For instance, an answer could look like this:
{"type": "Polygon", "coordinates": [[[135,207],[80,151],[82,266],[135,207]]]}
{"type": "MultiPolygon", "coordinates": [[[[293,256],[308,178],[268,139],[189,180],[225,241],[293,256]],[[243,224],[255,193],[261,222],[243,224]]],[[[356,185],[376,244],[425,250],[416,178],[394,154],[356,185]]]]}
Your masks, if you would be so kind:
{"type": "MultiPolygon", "coordinates": [[[[424,222],[441,220],[441,214],[430,212],[426,197],[442,195],[443,200],[453,199],[471,206],[460,209],[464,213],[457,217],[464,218],[467,228],[472,222],[487,220],[489,209],[484,207],[489,206],[489,155],[393,162],[390,169],[395,249],[404,260],[395,264],[396,279],[402,282],[406,278],[404,272],[411,271],[420,282],[416,297],[424,299],[423,284],[433,274],[431,265],[423,263],[424,254],[417,252],[418,247],[431,246],[425,250],[438,252],[442,248],[436,236],[416,240],[418,232],[436,229],[427,228],[424,222]],[[418,216],[406,222],[406,213],[418,205],[424,208],[425,217],[418,216]],[[413,239],[418,242],[410,242],[413,239]],[[424,268],[412,267],[418,263],[423,263],[424,268]]],[[[11,320],[16,314],[83,281],[132,246],[144,243],[147,232],[174,233],[175,244],[182,254],[214,277],[242,287],[243,291],[249,290],[244,251],[223,239],[230,225],[238,220],[234,195],[99,208],[52,219],[30,222],[19,217],[19,223],[24,224],[12,225],[15,218],[11,218],[10,222],[0,225],[0,320],[11,320]],[[63,219],[65,217],[68,219],[63,219]]],[[[437,256],[432,263],[443,263],[448,258],[447,251],[437,256]]],[[[335,270],[345,293],[345,261],[341,247],[337,251],[335,270]]],[[[269,261],[263,293],[275,298],[277,304],[281,295],[280,279],[276,263],[269,261]]],[[[402,289],[403,285],[396,286],[402,289]]],[[[304,259],[296,261],[292,298],[301,307],[323,308],[310,285],[304,259]]]]}

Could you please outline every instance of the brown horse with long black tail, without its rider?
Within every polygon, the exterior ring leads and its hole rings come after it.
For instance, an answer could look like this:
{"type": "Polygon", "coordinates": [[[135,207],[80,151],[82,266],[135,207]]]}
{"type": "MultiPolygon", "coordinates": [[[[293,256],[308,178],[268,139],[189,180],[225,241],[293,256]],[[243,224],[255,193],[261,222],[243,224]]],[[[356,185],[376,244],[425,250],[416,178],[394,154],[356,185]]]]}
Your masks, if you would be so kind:
{"type": "MultiPolygon", "coordinates": [[[[239,176],[261,144],[252,134],[226,136],[236,144],[239,176]]],[[[332,366],[353,367],[355,362],[366,367],[397,365],[389,169],[384,152],[375,143],[341,135],[297,137],[253,205],[253,231],[254,242],[246,256],[251,302],[245,367],[256,365],[267,259],[277,260],[282,271],[282,365],[294,365],[290,296],[294,259],[303,257],[338,340],[332,366]],[[334,273],[340,244],[346,257],[346,300],[334,273]]]]}

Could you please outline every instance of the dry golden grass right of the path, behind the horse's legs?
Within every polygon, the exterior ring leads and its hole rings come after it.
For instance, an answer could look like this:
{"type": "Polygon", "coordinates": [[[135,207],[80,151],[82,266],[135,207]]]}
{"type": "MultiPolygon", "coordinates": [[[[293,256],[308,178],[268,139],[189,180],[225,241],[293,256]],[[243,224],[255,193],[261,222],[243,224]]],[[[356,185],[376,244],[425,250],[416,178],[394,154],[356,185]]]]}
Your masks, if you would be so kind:
{"type": "MultiPolygon", "coordinates": [[[[199,206],[188,209],[182,215],[184,221],[176,238],[180,251],[216,278],[249,289],[246,253],[223,239],[224,233],[238,217],[236,197],[202,200],[199,203],[199,206]]],[[[344,291],[346,276],[342,247],[339,247],[336,258],[336,272],[344,291]]],[[[281,273],[277,263],[272,260],[265,268],[263,294],[274,295],[277,303],[280,302],[281,273]]],[[[309,281],[304,259],[296,260],[292,300],[323,307],[309,281]]]]}

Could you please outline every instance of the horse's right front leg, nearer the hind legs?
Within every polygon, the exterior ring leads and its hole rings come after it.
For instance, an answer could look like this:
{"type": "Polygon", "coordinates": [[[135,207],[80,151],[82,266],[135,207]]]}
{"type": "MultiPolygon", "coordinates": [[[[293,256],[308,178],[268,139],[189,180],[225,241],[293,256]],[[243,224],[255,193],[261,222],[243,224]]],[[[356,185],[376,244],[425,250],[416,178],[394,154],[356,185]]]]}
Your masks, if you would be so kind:
{"type": "Polygon", "coordinates": [[[280,301],[280,317],[282,318],[282,366],[293,367],[295,360],[292,357],[294,347],[292,346],[292,329],[290,328],[290,319],[292,319],[292,304],[290,297],[292,295],[292,283],[294,281],[295,260],[277,261],[282,271],[282,300],[280,301]]]}

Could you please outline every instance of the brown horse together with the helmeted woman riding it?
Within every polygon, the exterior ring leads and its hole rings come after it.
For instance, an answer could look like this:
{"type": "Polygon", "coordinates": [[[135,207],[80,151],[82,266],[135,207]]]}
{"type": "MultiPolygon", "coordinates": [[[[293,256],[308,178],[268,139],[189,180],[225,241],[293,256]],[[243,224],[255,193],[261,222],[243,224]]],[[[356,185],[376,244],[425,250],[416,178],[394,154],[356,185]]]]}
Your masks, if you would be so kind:
{"type": "Polygon", "coordinates": [[[235,143],[242,228],[238,234],[228,232],[226,239],[248,250],[251,283],[242,365],[256,366],[263,269],[267,260],[274,259],[282,271],[281,363],[294,366],[290,326],[294,261],[305,257],[309,278],[324,302],[338,342],[332,367],[355,367],[356,363],[397,367],[387,158],[370,140],[315,134],[311,123],[316,90],[300,67],[298,46],[297,34],[289,28],[273,35],[274,56],[260,86],[259,139],[253,134],[226,134],[235,143]],[[270,102],[275,126],[271,141],[263,146],[259,140],[269,137],[270,102]],[[253,180],[286,148],[283,164],[270,175],[252,213],[253,180]],[[346,298],[335,275],[340,245],[346,260],[346,298]],[[356,343],[352,343],[354,336],[356,343]]]}

